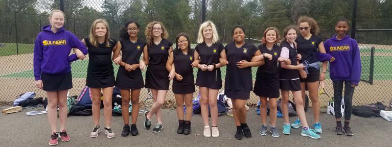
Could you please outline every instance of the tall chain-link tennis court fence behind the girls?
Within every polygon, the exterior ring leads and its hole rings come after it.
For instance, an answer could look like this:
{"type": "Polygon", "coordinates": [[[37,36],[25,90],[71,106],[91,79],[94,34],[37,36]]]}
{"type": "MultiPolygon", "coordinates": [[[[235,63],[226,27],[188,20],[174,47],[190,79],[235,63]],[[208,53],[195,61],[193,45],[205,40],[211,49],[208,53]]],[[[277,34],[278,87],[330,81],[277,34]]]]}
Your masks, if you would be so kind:
{"type": "MultiPolygon", "coordinates": [[[[147,23],[156,20],[164,23],[169,32],[169,40],[174,41],[176,34],[186,32],[194,47],[198,26],[203,18],[203,3],[197,0],[63,2],[64,27],[80,39],[89,34],[91,23],[97,18],[106,19],[111,36],[118,39],[123,23],[132,18],[141,24],[141,39],[145,40],[144,30],[147,23]]],[[[245,28],[246,41],[258,44],[266,28],[276,27],[282,32],[289,24],[296,24],[297,18],[301,15],[315,18],[320,27],[319,36],[326,40],[335,34],[334,28],[338,18],[345,17],[350,22],[353,21],[353,6],[354,0],[206,0],[204,14],[206,20],[212,20],[216,24],[220,41],[223,43],[232,40],[232,29],[240,24],[245,28]]],[[[392,92],[389,92],[389,85],[392,84],[392,42],[388,38],[392,36],[386,31],[392,29],[392,1],[359,0],[357,6],[357,29],[385,30],[356,32],[362,61],[361,79],[364,82],[356,88],[353,104],[389,102],[389,96],[392,95],[392,92]]],[[[51,9],[60,9],[60,1],[0,1],[0,102],[12,102],[16,95],[27,91],[35,91],[38,96],[45,96],[45,93],[34,85],[32,53],[34,39],[40,28],[49,24],[48,15],[51,9]]],[[[70,89],[71,95],[77,95],[85,85],[87,64],[88,59],[72,64],[74,88],[70,89]]],[[[118,66],[114,67],[114,71],[117,72],[118,66]]],[[[256,78],[256,70],[257,67],[252,68],[253,79],[256,78]]],[[[222,73],[225,72],[223,68],[222,73]]],[[[222,78],[224,75],[222,74],[222,78]]],[[[198,93],[198,88],[196,89],[195,96],[198,93]]],[[[325,90],[333,96],[332,81],[328,75],[325,90]]],[[[143,101],[147,96],[147,90],[143,88],[140,100],[143,101]]],[[[166,100],[174,101],[171,86],[166,100]]],[[[321,106],[328,105],[328,101],[329,97],[320,97],[321,106]]],[[[248,104],[254,105],[257,102],[258,97],[251,92],[248,104]]]]}

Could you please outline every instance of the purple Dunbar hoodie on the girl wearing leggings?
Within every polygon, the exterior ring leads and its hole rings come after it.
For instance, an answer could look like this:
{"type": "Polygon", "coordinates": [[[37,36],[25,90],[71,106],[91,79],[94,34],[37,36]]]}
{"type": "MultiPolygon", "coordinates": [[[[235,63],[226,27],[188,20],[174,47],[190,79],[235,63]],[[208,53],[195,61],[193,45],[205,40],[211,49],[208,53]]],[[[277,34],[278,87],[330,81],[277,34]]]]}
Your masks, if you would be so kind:
{"type": "Polygon", "coordinates": [[[343,39],[336,39],[336,35],[324,42],[326,52],[335,61],[330,63],[330,77],[332,81],[351,81],[358,85],[361,77],[361,59],[358,43],[349,35],[343,39]]]}

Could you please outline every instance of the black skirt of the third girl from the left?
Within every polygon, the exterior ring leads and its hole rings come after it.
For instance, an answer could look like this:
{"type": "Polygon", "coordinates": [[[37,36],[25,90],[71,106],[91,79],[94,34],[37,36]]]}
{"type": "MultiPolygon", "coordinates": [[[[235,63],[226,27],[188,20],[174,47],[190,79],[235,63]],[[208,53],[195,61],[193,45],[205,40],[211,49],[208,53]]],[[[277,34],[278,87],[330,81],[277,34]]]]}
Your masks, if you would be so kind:
{"type": "Polygon", "coordinates": [[[127,71],[124,66],[120,66],[119,72],[117,72],[116,86],[120,89],[142,89],[144,87],[142,70],[136,68],[127,71]]]}

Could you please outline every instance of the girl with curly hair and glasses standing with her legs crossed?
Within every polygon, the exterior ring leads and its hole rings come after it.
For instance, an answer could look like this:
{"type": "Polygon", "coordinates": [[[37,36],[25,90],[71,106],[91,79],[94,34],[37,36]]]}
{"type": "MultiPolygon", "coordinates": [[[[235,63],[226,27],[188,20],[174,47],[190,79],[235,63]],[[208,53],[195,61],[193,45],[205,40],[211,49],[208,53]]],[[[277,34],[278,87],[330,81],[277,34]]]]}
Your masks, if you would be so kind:
{"type": "Polygon", "coordinates": [[[144,127],[149,130],[151,127],[151,117],[155,114],[157,123],[152,130],[153,133],[159,133],[163,129],[161,108],[164,105],[166,93],[169,90],[169,80],[174,78],[174,68],[166,70],[166,62],[169,53],[173,51],[173,43],[167,40],[169,36],[164,24],[158,21],[152,21],[146,27],[147,46],[144,47],[144,61],[140,63],[140,68],[146,71],[146,88],[151,88],[154,104],[150,111],[145,112],[144,127]],[[148,59],[149,58],[149,59],[148,59]]]}

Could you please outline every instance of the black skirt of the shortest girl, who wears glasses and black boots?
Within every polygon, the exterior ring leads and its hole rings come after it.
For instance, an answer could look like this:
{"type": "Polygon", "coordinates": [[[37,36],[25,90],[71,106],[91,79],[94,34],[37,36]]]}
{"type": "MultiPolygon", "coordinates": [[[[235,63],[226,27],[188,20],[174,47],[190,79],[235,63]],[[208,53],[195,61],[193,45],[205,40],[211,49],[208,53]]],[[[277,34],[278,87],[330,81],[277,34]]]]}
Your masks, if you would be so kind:
{"type": "Polygon", "coordinates": [[[173,79],[173,93],[174,94],[188,94],[195,92],[195,79],[193,75],[182,76],[181,81],[173,79]]]}

